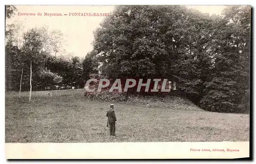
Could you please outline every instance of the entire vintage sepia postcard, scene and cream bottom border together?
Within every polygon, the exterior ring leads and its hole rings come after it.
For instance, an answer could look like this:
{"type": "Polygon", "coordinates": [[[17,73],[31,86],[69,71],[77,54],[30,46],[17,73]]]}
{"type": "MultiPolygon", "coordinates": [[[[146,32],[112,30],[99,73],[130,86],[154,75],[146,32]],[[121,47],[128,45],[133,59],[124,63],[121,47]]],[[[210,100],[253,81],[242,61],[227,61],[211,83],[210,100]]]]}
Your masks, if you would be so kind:
{"type": "Polygon", "coordinates": [[[250,59],[250,5],[5,5],[7,158],[44,158],[19,156],[31,143],[249,157],[250,59]]]}

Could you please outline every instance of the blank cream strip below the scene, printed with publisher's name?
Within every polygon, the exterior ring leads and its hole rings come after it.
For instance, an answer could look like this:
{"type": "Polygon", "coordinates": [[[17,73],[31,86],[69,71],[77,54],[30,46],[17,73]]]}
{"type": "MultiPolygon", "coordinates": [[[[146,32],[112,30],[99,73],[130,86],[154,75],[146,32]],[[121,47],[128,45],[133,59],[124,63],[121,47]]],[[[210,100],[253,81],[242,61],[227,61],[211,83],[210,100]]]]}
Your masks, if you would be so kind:
{"type": "Polygon", "coordinates": [[[6,144],[8,159],[232,159],[244,157],[249,157],[249,142],[6,144]],[[224,151],[214,151],[215,149],[224,151]],[[227,149],[234,151],[230,152],[227,149]]]}

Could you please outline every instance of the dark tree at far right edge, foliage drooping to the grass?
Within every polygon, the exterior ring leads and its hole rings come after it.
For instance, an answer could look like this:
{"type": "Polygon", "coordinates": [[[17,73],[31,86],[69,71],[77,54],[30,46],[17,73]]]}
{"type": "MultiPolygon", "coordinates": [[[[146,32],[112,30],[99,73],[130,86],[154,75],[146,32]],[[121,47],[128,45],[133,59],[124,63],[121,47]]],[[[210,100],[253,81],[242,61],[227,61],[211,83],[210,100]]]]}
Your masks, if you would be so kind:
{"type": "Polygon", "coordinates": [[[227,7],[217,24],[220,30],[215,39],[214,78],[204,84],[201,107],[218,112],[248,112],[250,7],[227,7]]]}

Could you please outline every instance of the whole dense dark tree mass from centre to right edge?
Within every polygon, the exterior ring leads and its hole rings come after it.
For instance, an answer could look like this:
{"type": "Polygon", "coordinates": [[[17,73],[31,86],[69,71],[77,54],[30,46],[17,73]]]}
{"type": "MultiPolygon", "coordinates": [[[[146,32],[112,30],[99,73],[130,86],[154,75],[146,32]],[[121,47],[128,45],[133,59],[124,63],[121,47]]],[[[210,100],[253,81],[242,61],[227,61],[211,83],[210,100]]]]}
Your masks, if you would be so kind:
{"type": "Polygon", "coordinates": [[[168,78],[205,110],[249,111],[250,6],[211,16],[184,6],[117,6],[112,15],[90,53],[101,77],[168,78]]]}

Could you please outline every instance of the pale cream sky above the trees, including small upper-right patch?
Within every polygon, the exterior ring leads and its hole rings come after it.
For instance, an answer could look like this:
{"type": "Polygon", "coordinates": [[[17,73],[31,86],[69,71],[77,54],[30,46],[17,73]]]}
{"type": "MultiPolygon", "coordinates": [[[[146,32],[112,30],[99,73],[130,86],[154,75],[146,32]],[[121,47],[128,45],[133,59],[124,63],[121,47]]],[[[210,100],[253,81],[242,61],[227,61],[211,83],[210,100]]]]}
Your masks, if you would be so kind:
{"type": "MultiPolygon", "coordinates": [[[[203,13],[220,14],[225,6],[187,6],[195,8],[203,13]]],[[[17,12],[7,24],[22,22],[26,32],[34,27],[49,27],[50,30],[58,29],[65,37],[66,44],[63,46],[68,53],[84,57],[90,52],[94,40],[93,31],[99,27],[104,16],[69,16],[71,13],[110,13],[114,6],[16,6],[17,12]],[[35,13],[36,15],[18,15],[19,13],[35,13]],[[42,16],[38,16],[41,13],[42,16]],[[61,13],[67,16],[44,16],[44,13],[61,13]]]]}

